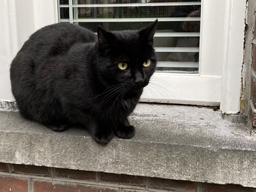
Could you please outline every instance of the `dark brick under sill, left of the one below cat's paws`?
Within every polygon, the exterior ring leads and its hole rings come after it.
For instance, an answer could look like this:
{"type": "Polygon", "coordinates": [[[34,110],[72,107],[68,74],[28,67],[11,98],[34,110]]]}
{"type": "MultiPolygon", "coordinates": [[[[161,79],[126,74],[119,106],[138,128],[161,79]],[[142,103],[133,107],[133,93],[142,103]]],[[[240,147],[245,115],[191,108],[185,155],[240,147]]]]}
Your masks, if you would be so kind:
{"type": "Polygon", "coordinates": [[[96,181],[96,173],[92,171],[80,171],[72,169],[55,169],[56,178],[69,178],[78,180],[96,181]]]}

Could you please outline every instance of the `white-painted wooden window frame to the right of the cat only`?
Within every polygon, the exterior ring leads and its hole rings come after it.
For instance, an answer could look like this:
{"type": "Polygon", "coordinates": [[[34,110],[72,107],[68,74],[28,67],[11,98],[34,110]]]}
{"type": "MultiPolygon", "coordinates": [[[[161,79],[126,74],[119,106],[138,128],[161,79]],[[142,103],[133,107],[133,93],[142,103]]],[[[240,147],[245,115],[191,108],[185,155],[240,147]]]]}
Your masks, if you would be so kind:
{"type": "Polygon", "coordinates": [[[153,81],[155,88],[145,90],[141,101],[220,105],[227,114],[239,112],[245,7],[245,0],[202,0],[199,73],[155,73],[153,79],[161,80],[153,81]],[[161,92],[152,94],[156,86],[161,92]]]}

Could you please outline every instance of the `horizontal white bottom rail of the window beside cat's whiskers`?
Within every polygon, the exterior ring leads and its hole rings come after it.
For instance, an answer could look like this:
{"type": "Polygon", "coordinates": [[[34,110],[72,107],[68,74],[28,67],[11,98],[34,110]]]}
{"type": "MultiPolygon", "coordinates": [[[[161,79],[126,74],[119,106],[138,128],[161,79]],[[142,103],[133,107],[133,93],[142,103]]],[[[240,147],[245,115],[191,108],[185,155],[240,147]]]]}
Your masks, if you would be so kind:
{"type": "Polygon", "coordinates": [[[141,101],[219,106],[220,85],[221,76],[155,73],[141,101]]]}

